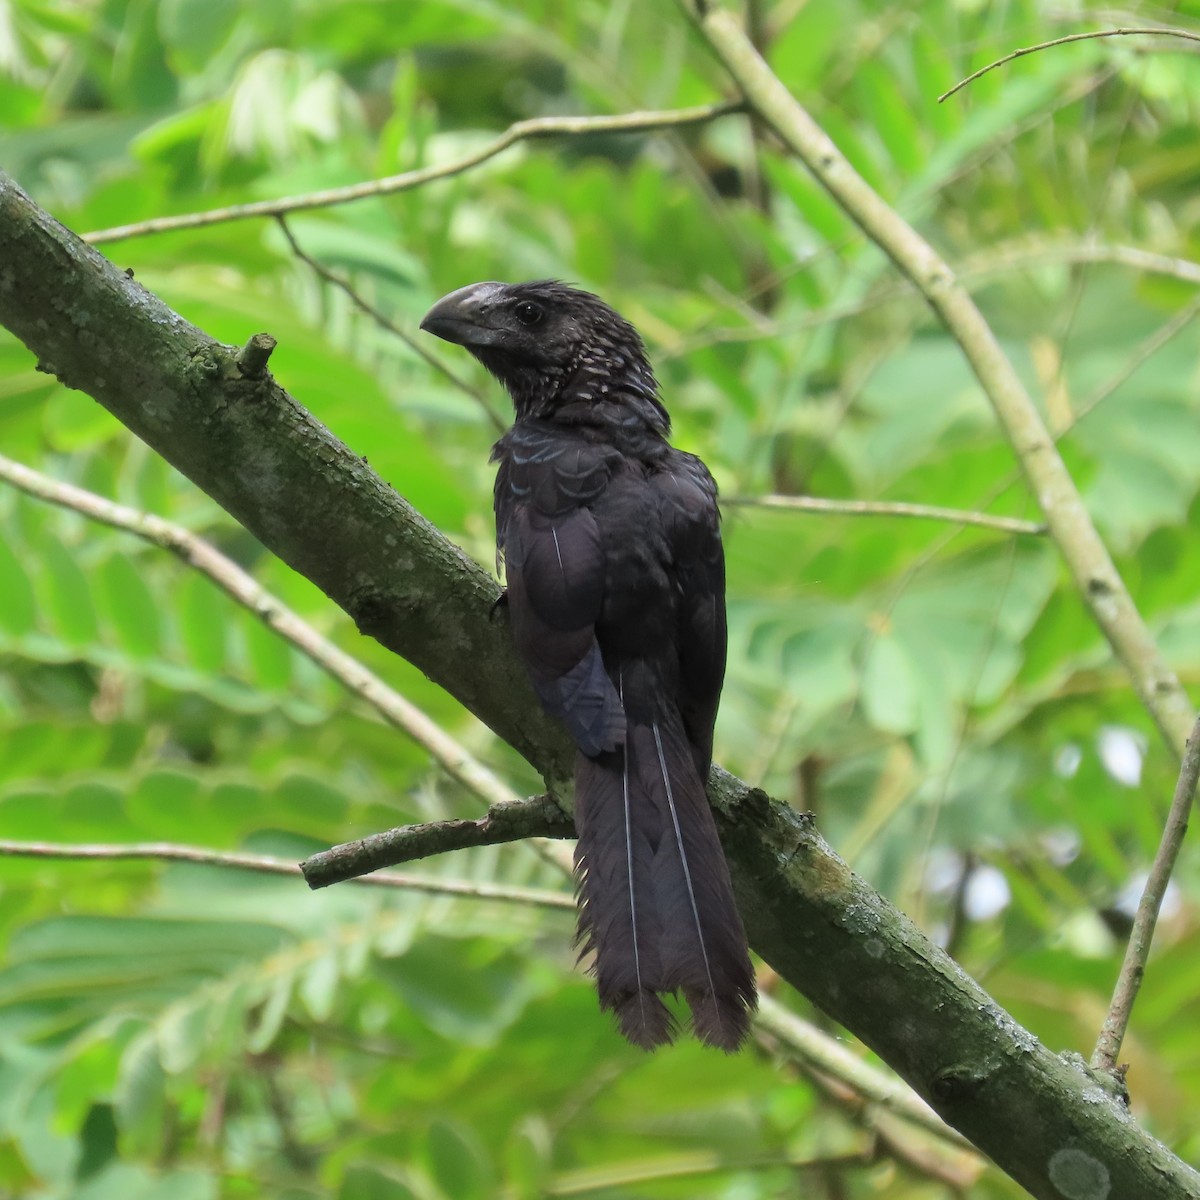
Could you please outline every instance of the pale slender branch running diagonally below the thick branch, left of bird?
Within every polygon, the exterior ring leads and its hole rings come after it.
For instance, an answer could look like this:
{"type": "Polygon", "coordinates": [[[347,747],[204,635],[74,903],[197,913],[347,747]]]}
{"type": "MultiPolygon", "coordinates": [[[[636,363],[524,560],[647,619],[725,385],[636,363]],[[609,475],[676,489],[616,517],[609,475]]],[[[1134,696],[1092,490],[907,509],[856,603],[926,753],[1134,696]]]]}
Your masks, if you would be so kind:
{"type": "MultiPolygon", "coordinates": [[[[253,341],[253,340],[252,340],[253,341]]],[[[452,779],[485,804],[510,804],[520,797],[498,775],[474,758],[437,722],[400,692],[326,637],[302,617],[272,596],[233,559],[182,526],[65,484],[0,456],[0,479],[29,496],[80,512],[114,529],[124,529],[163,550],[206,575],[222,592],[253,612],[264,625],[287,638],[340,684],[365,700],[389,725],[424,746],[452,779]]]]}

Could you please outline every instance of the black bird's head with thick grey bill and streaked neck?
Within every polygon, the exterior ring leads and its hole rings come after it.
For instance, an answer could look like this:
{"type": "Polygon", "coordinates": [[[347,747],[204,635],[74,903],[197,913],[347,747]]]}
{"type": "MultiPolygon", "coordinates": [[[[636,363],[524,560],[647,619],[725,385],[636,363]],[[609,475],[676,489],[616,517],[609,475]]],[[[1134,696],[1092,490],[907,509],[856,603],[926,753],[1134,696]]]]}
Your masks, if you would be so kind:
{"type": "Polygon", "coordinates": [[[637,330],[590,292],[554,280],[472,283],[443,296],[421,329],[464,346],[518,418],[670,428],[637,330]]]}

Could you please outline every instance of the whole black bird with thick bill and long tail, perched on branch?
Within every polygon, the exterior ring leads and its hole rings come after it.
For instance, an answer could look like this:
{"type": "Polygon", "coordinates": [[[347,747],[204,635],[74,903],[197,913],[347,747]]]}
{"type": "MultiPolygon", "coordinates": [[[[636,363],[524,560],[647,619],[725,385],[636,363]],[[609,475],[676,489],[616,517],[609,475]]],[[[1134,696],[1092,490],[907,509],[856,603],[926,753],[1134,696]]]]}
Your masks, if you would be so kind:
{"type": "Polygon", "coordinates": [[[496,541],[517,649],[578,748],[578,938],[602,1008],[653,1049],[662,994],[732,1051],[754,973],[704,781],[725,677],[716,485],[667,442],[637,330],[554,281],[474,283],[421,322],[512,397],[492,450],[496,541]]]}

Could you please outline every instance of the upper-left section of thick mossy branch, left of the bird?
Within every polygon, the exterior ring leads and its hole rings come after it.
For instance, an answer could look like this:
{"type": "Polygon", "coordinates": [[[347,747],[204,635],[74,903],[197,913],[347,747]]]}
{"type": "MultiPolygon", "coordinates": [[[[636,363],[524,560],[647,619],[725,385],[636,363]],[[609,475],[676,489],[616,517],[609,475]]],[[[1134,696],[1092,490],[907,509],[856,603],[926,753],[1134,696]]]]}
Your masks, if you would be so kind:
{"type": "MultiPolygon", "coordinates": [[[[0,322],[556,780],[499,587],[266,372],[168,308],[0,174],[0,322]],[[498,617],[500,613],[498,613],[498,617]],[[480,670],[480,664],[490,670],[480,670]]],[[[403,486],[402,480],[395,481],[403,486]]]]}

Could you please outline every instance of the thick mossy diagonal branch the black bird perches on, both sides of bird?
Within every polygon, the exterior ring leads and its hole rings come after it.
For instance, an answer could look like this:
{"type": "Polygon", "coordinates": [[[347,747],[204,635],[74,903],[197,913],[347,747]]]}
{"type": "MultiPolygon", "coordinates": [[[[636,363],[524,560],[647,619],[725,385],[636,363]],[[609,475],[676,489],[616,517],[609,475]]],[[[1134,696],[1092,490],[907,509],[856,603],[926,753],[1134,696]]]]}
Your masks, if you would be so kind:
{"type": "MultiPolygon", "coordinates": [[[[496,583],[269,376],[84,246],[0,174],[0,323],[552,780],[566,739],[490,619],[496,583]]],[[[250,331],[247,331],[250,332],[250,331]]],[[[403,480],[396,484],[403,487],[403,480]]],[[[1099,1076],[1040,1045],[786,805],[718,770],[754,948],[1048,1200],[1180,1200],[1200,1175],[1099,1076]]]]}

